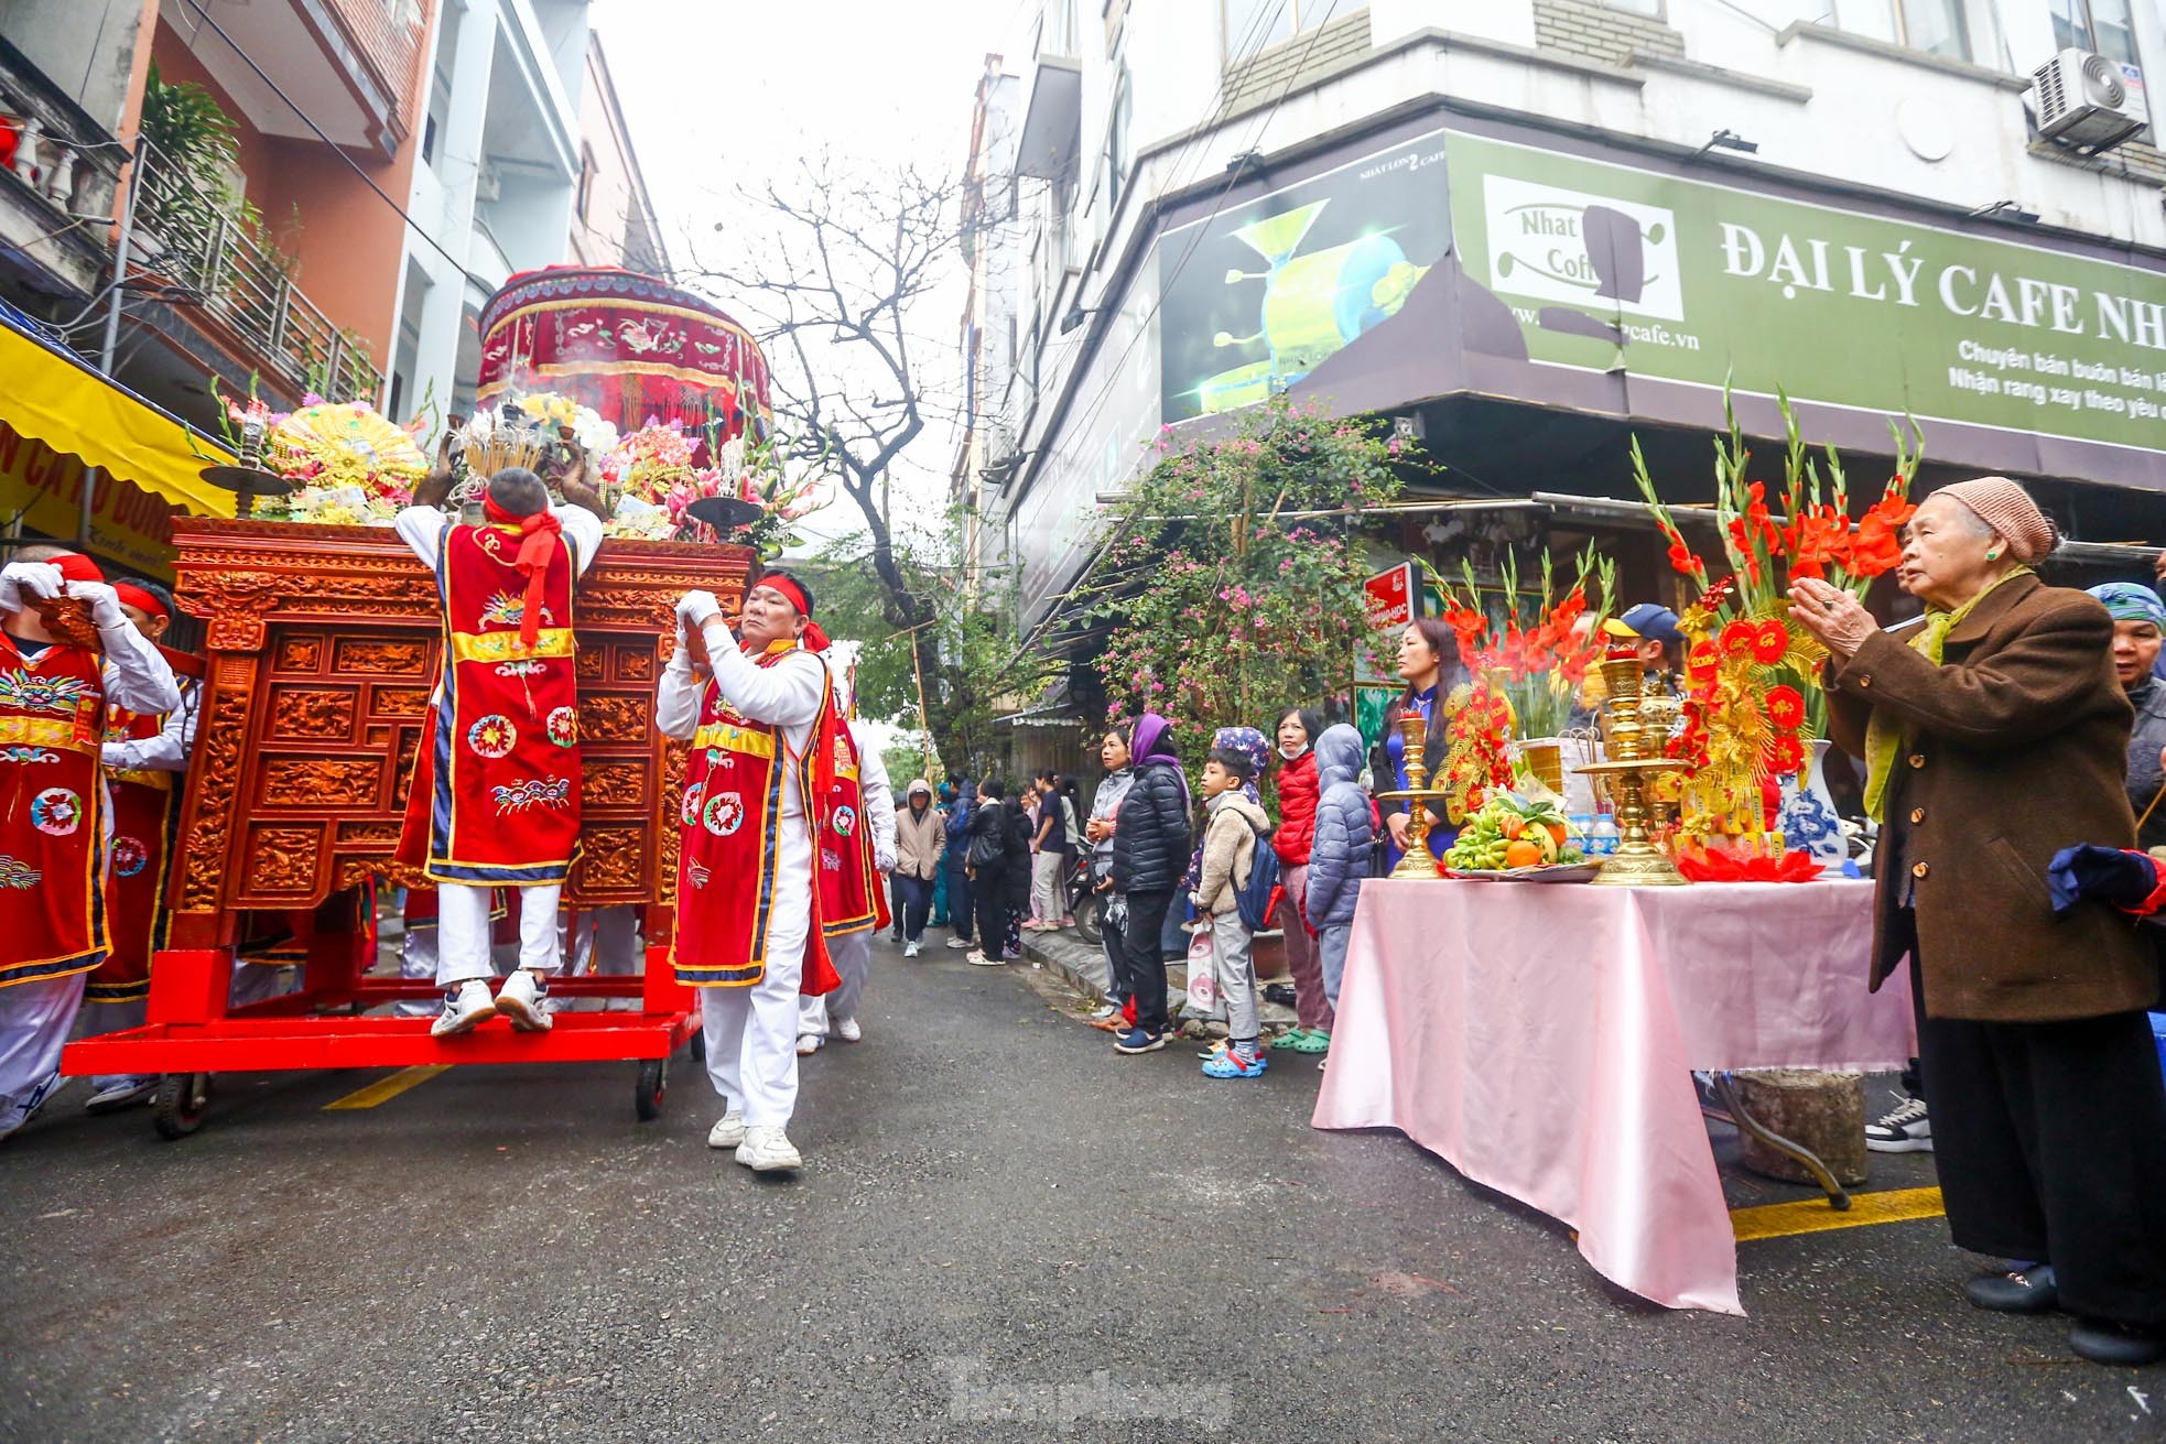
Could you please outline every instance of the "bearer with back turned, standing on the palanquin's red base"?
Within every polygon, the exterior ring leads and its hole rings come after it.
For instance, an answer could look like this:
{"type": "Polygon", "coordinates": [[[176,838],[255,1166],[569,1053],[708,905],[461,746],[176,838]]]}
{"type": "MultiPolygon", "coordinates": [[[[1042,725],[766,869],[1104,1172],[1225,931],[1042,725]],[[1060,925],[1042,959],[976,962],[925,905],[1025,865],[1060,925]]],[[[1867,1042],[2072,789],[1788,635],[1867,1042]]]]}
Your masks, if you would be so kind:
{"type": "Polygon", "coordinates": [[[561,966],[557,894],[578,859],[578,682],[572,589],[602,543],[598,498],[526,468],[496,472],[481,526],[453,526],[435,502],[440,468],[392,522],[438,576],[444,660],[407,795],[399,855],[438,885],[438,966],[444,1011],[435,1037],[503,1013],[546,1033],[546,979],[561,966]],[[520,966],[490,998],[490,890],[520,901],[520,966]]]}

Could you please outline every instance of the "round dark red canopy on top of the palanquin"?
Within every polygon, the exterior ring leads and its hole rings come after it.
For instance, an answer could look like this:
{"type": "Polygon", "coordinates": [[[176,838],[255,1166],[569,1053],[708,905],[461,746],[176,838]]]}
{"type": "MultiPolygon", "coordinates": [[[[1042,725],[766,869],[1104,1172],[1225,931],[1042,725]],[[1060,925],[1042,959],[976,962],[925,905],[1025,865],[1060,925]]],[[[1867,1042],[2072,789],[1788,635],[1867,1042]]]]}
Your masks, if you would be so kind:
{"type": "Polygon", "coordinates": [[[563,392],[617,431],[650,420],[721,439],[771,418],[767,357],[713,303],[615,266],[522,271],[481,312],[477,403],[513,392],[563,392]]]}

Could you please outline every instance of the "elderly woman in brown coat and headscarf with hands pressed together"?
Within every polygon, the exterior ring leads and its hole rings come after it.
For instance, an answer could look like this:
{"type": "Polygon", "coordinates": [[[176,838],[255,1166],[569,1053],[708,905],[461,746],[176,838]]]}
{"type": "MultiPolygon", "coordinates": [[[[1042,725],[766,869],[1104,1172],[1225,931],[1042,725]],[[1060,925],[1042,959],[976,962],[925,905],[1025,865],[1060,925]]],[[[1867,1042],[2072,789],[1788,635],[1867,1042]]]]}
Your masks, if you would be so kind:
{"type": "Polygon", "coordinates": [[[1954,1240],[2017,1260],[1980,1308],[2077,1316],[2101,1364],[2166,1357],[2166,1082],[2131,918],[2056,922],[2062,846],[2136,840],[2131,710],[2112,619],[2030,563],[2053,524],[2001,476],[1943,487],[1904,533],[1908,636],[1817,580],[1791,617],[1828,645],[1835,740],[1882,821],[1871,985],[1910,955],[1934,1158],[1954,1240]],[[2036,1260],[2032,1264],[2032,1260],[2036,1260]],[[2032,1264],[2032,1266],[2025,1266],[2032,1264]]]}

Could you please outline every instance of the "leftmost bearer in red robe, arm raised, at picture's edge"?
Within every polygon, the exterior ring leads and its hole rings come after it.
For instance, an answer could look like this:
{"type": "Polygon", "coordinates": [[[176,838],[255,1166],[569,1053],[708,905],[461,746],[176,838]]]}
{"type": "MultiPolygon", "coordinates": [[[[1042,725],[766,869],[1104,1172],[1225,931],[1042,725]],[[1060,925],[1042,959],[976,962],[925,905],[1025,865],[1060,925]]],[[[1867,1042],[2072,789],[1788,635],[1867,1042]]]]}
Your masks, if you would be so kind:
{"type": "Polygon", "coordinates": [[[180,706],[173,669],[121,613],[89,556],[30,548],[0,569],[0,1139],[61,1085],[82,981],[106,959],[106,784],[113,708],[180,706]],[[89,604],[100,654],[39,615],[89,604]]]}

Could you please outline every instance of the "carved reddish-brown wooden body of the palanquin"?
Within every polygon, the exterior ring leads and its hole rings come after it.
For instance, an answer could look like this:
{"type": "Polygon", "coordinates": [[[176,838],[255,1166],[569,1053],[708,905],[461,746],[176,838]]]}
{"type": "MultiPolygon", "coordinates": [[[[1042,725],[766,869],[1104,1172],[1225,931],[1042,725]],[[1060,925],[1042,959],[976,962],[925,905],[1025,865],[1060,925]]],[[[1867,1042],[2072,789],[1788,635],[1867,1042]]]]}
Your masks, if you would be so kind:
{"type": "MultiPolygon", "coordinates": [[[[230,946],[236,914],[310,909],[373,875],[422,883],[392,853],[442,649],[431,572],[379,526],[178,517],[173,541],[206,671],[171,946],[230,946]]],[[[684,749],[654,732],[654,684],[678,598],[702,587],[734,615],[752,556],[604,541],[580,580],[585,855],[567,907],[667,905],[684,749]]]]}

